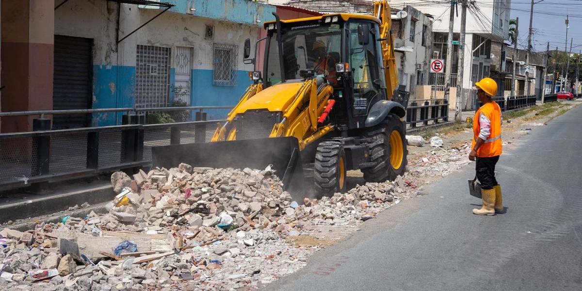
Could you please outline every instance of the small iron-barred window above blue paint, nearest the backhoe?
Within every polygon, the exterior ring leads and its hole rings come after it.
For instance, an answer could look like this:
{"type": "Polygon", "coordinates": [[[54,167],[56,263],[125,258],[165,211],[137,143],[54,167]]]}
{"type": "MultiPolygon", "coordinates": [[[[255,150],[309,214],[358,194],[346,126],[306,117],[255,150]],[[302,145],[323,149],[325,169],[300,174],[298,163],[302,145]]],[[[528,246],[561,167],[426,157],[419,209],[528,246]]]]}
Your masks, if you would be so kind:
{"type": "Polygon", "coordinates": [[[238,45],[214,44],[214,77],[212,84],[235,86],[238,45]]]}

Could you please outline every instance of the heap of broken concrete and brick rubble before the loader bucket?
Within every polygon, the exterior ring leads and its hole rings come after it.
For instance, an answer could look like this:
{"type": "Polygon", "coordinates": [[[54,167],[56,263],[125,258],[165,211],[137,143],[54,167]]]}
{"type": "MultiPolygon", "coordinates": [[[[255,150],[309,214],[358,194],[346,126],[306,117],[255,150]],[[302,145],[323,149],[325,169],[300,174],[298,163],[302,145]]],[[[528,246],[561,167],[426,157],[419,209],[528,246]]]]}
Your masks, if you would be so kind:
{"type": "Polygon", "coordinates": [[[321,199],[292,201],[269,169],[178,168],[123,172],[106,214],[63,217],[0,232],[0,289],[208,290],[255,288],[306,264],[322,228],[352,226],[416,191],[366,183],[321,199]]]}

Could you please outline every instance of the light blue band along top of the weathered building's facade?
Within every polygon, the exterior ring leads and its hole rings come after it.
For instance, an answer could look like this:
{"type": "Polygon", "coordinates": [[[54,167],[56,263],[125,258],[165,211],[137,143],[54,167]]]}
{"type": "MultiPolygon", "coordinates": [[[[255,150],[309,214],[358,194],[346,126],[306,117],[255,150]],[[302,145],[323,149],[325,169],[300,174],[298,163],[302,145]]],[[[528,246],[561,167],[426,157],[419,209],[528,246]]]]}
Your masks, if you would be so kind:
{"type": "MultiPolygon", "coordinates": [[[[171,11],[190,14],[187,11],[188,1],[169,0],[167,2],[176,5],[170,9],[171,11]]],[[[265,21],[275,20],[272,14],[276,10],[275,6],[249,0],[194,0],[193,3],[196,8],[192,14],[194,16],[257,26],[265,21]],[[256,22],[255,15],[261,23],[256,22]]]]}

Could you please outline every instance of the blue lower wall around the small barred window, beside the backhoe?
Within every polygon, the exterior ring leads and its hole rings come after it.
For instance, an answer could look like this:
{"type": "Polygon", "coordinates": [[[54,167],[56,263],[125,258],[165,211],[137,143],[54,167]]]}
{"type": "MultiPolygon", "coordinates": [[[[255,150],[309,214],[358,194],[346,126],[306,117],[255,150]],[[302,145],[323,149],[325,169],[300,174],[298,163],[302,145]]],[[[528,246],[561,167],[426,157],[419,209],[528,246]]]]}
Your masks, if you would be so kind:
{"type": "MultiPolygon", "coordinates": [[[[244,91],[251,84],[249,72],[239,70],[236,73],[235,86],[215,86],[212,84],[212,70],[192,70],[192,106],[235,106],[244,91]]],[[[208,110],[207,119],[224,119],[230,109],[208,110]]]]}

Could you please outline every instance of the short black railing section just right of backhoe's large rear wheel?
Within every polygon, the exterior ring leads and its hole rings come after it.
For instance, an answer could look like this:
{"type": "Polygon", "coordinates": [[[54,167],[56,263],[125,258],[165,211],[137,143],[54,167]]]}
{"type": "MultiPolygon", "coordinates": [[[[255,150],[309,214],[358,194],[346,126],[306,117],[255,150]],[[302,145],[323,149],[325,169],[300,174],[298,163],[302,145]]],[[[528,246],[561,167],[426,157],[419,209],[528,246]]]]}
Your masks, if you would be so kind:
{"type": "Polygon", "coordinates": [[[411,100],[406,108],[406,123],[417,127],[417,123],[428,125],[439,120],[449,120],[449,102],[446,99],[411,100]]]}

